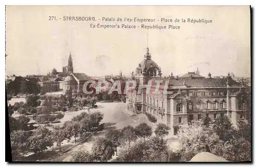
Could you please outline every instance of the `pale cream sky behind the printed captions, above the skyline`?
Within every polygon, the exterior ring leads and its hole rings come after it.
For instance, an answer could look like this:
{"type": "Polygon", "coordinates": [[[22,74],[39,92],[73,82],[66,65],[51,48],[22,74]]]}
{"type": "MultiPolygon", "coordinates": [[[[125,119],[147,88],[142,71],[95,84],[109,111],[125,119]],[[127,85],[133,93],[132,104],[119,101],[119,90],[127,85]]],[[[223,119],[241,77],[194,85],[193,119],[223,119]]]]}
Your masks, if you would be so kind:
{"type": "Polygon", "coordinates": [[[73,58],[75,73],[130,76],[146,47],[163,76],[200,70],[200,75],[250,76],[249,6],[7,6],[6,74],[46,75],[62,71],[73,58]],[[91,16],[96,21],[49,20],[49,16],[91,16]],[[92,29],[90,23],[140,26],[139,22],[102,22],[102,17],[203,18],[212,23],[145,22],[179,30],[92,29]],[[148,42],[147,42],[148,41],[148,42]]]}

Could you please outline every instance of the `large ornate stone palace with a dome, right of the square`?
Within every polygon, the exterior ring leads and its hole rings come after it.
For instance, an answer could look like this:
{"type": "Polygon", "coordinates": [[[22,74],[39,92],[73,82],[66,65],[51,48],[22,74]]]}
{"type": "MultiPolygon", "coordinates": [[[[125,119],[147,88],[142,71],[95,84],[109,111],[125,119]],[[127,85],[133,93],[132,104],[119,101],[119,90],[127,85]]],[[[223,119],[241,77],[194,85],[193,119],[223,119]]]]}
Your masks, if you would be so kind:
{"type": "Polygon", "coordinates": [[[236,126],[244,118],[242,111],[248,86],[234,81],[229,74],[227,77],[212,78],[209,73],[205,78],[197,70],[196,73],[187,73],[180,77],[172,74],[168,78],[162,78],[161,75],[161,68],[152,60],[147,48],[144,60],[139,63],[135,73],[132,73],[132,78],[137,84],[143,85],[148,85],[149,80],[163,82],[158,94],[153,93],[157,82],[153,82],[150,93],[146,92],[146,86],[143,86],[141,93],[138,89],[129,90],[126,101],[128,110],[133,113],[153,114],[158,123],[169,127],[173,135],[191,120],[205,117],[215,120],[226,115],[236,126]],[[165,83],[168,85],[164,85],[165,83]],[[164,86],[172,93],[165,93],[164,86]]]}

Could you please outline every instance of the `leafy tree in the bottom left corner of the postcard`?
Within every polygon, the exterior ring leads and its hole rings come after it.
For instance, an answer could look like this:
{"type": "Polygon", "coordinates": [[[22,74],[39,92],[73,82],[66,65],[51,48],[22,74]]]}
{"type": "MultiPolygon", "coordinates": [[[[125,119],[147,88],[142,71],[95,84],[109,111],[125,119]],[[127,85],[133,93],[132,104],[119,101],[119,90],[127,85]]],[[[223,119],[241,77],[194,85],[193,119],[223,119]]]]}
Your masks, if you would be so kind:
{"type": "Polygon", "coordinates": [[[10,134],[11,139],[11,151],[12,160],[19,160],[23,154],[28,153],[28,137],[30,137],[31,132],[23,130],[15,130],[10,134]]]}

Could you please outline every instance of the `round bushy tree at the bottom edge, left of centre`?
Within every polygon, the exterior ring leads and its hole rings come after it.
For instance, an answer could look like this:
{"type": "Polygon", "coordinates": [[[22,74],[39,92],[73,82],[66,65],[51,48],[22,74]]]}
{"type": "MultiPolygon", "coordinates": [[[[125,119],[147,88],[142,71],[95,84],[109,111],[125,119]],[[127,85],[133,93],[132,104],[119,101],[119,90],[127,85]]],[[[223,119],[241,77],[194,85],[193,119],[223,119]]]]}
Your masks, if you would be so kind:
{"type": "Polygon", "coordinates": [[[92,146],[93,159],[96,161],[108,161],[115,154],[113,143],[103,137],[96,139],[92,146]]]}

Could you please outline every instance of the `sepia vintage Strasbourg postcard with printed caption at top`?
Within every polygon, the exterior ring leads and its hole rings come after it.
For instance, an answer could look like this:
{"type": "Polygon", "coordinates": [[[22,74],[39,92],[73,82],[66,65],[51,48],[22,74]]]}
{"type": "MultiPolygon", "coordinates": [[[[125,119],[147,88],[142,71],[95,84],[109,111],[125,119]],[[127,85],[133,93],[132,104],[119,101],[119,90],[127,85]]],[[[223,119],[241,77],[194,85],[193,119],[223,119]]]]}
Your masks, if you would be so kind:
{"type": "Polygon", "coordinates": [[[250,20],[250,6],[6,6],[7,161],[251,161],[250,20]]]}

